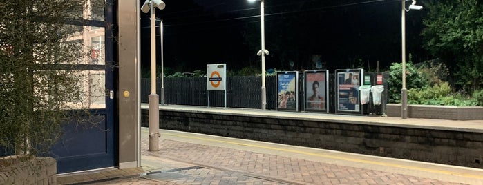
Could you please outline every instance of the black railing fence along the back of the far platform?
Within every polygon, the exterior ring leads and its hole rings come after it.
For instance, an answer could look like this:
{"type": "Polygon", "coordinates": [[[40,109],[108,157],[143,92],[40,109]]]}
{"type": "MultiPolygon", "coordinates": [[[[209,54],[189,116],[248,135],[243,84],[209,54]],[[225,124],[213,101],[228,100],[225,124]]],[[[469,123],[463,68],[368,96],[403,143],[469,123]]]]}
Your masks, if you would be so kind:
{"type": "MultiPolygon", "coordinates": [[[[376,84],[376,72],[364,72],[370,75],[372,85],[376,84]]],[[[382,107],[367,105],[366,113],[383,113],[384,105],[388,101],[388,72],[381,72],[383,75],[384,91],[382,94],[382,107]]],[[[329,95],[330,112],[335,112],[336,107],[336,86],[334,74],[330,74],[329,95]]],[[[277,92],[276,77],[266,76],[265,87],[267,88],[267,106],[269,110],[276,109],[277,92]]],[[[231,108],[261,108],[261,77],[227,77],[227,107],[231,108]]],[[[303,72],[299,73],[299,110],[303,110],[303,72]]],[[[161,93],[161,79],[156,81],[156,92],[161,93]]],[[[151,79],[141,80],[141,101],[148,103],[148,95],[151,93],[151,79]]],[[[225,106],[225,95],[223,90],[209,91],[209,105],[214,107],[225,106]]],[[[164,104],[208,106],[207,79],[205,77],[180,77],[164,78],[164,104]]],[[[160,97],[161,101],[161,97],[160,97]]]]}

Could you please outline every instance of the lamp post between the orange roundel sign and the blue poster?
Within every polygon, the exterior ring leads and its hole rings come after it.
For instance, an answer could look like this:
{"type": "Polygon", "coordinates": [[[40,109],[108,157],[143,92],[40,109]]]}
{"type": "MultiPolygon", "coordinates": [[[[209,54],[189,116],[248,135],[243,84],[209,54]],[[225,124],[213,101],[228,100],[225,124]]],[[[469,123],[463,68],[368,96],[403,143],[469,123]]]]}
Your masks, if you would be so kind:
{"type": "MultiPolygon", "coordinates": [[[[248,0],[249,2],[255,2],[257,0],[248,0]]],[[[261,21],[261,40],[262,48],[257,52],[258,56],[262,57],[262,110],[267,106],[267,89],[265,88],[265,55],[269,55],[268,50],[265,50],[265,0],[260,1],[260,21],[261,21]]]]}

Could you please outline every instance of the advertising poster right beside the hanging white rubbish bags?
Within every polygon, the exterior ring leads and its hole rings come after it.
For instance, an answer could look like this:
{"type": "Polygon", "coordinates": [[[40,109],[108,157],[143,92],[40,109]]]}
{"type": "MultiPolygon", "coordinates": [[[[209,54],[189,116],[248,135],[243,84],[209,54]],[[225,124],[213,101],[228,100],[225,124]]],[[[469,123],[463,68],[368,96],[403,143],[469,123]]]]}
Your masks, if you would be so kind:
{"type": "Polygon", "coordinates": [[[359,86],[361,86],[362,69],[336,70],[337,112],[360,113],[359,86]]]}

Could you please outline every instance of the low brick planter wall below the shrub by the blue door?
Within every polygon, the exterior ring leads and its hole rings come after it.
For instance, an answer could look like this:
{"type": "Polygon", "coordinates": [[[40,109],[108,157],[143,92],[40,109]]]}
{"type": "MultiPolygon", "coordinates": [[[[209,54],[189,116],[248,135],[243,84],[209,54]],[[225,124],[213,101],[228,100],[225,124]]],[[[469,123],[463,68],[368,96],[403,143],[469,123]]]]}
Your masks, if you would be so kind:
{"type": "Polygon", "coordinates": [[[52,157],[0,157],[0,184],[57,184],[56,174],[52,157]]]}

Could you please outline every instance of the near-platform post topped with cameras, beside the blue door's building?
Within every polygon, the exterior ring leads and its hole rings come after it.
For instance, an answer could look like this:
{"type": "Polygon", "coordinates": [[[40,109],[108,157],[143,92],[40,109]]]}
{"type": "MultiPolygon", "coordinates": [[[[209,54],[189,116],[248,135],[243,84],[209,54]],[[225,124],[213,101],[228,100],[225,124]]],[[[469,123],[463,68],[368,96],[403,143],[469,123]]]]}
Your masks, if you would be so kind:
{"type": "Polygon", "coordinates": [[[160,130],[160,101],[156,94],[156,12],[154,7],[163,10],[166,7],[161,0],[146,0],[141,7],[142,12],[151,11],[151,94],[149,95],[149,151],[158,151],[160,130]]]}

